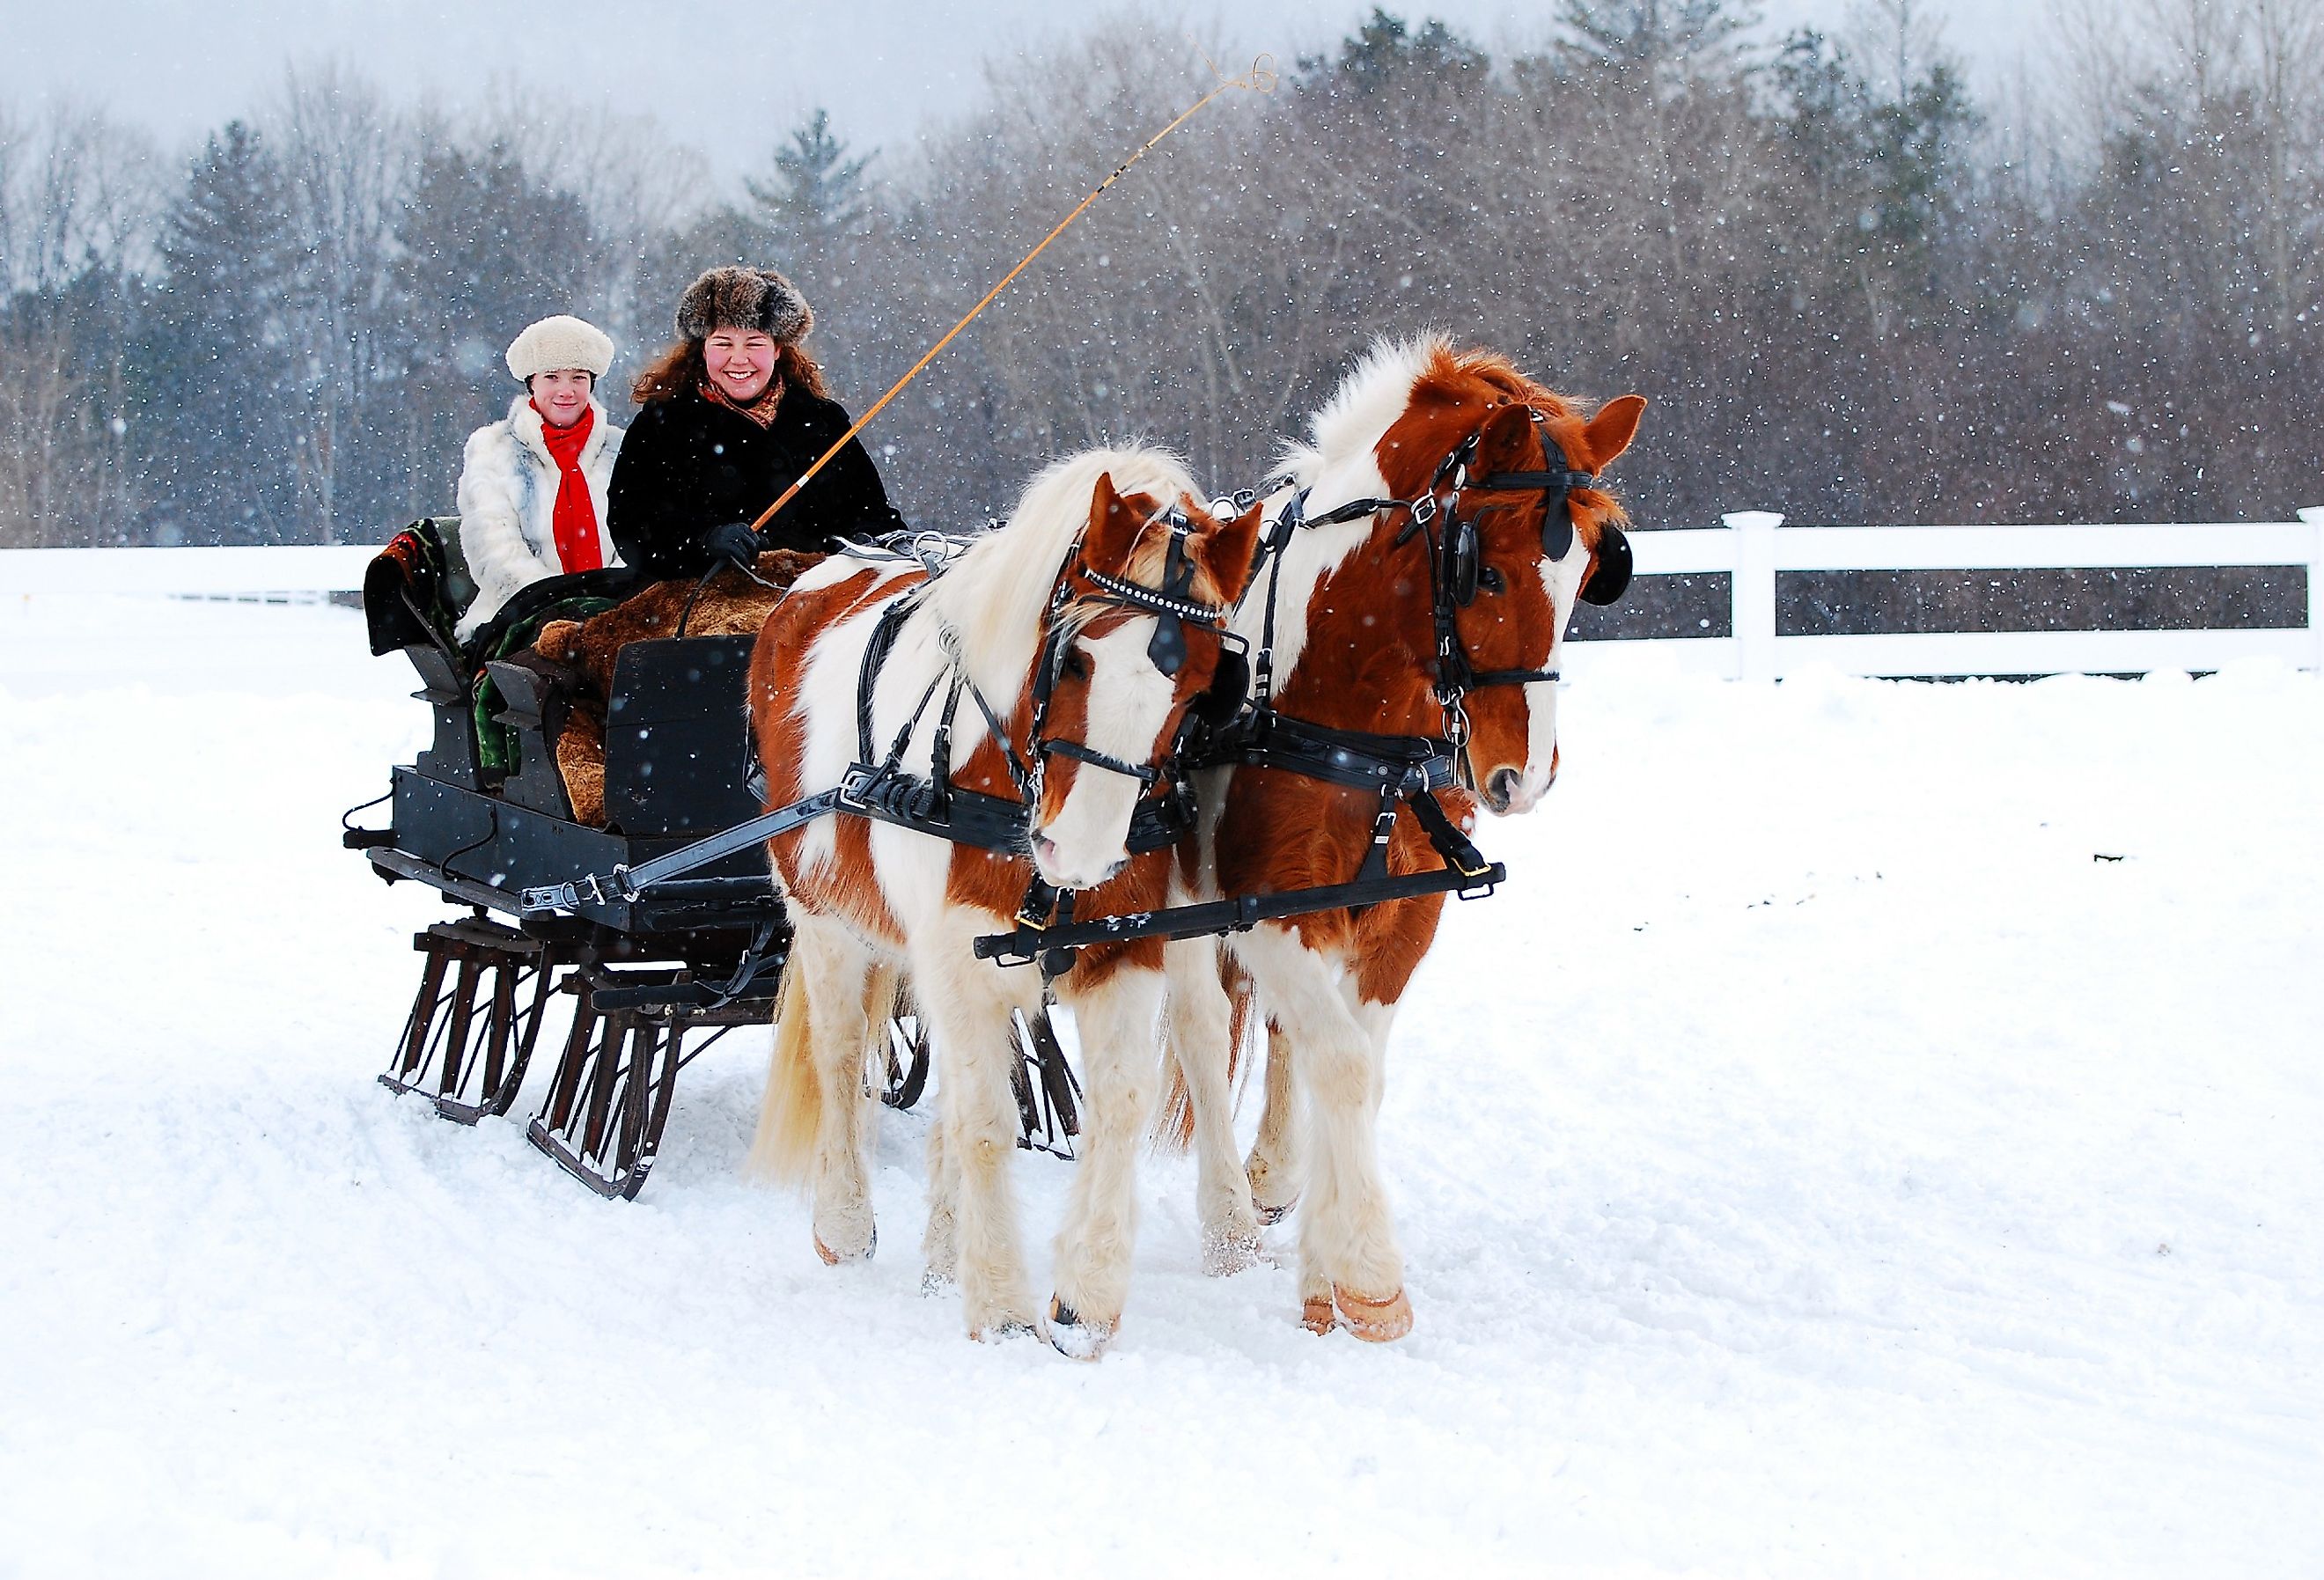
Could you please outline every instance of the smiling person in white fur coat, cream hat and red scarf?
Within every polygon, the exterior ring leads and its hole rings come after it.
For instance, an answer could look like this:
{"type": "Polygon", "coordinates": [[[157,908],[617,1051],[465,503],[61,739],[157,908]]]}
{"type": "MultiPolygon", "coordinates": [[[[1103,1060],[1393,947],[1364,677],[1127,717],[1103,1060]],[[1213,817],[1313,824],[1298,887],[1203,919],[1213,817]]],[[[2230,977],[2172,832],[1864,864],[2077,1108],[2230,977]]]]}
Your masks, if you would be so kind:
{"type": "Polygon", "coordinates": [[[618,562],[604,530],[604,488],[623,430],[595,395],[611,365],[614,342],[565,314],[528,325],[509,344],[509,372],[525,393],[507,418],[472,432],[460,458],[460,551],[476,581],[460,641],[518,588],[618,562]]]}

